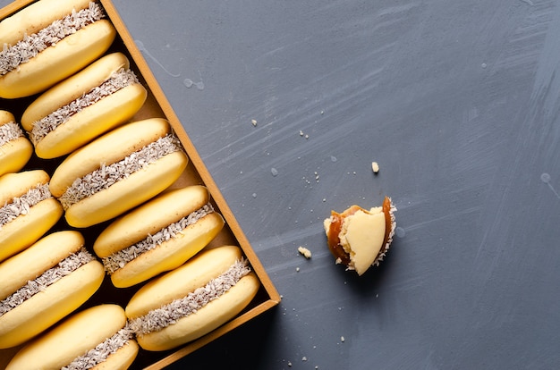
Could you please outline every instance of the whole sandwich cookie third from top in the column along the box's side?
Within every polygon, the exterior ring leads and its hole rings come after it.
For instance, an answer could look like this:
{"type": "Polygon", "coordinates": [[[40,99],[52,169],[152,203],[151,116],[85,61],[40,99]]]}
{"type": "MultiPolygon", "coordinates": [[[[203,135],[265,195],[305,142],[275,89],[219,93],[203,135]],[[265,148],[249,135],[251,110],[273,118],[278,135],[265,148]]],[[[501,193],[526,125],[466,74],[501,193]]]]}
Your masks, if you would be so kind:
{"type": "Polygon", "coordinates": [[[49,184],[74,227],[110,220],[176,181],[188,158],[162,118],[118,127],[72,152],[49,184]]]}

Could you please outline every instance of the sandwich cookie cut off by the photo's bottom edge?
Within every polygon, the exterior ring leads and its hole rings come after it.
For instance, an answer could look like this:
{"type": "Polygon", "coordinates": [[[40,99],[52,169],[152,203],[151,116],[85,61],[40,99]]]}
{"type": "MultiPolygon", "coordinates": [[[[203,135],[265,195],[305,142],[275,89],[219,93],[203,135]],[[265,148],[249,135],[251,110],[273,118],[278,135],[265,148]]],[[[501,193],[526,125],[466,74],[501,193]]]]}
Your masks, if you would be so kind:
{"type": "Polygon", "coordinates": [[[30,341],[6,370],[124,370],[138,350],[123,308],[105,304],[73,314],[30,341]]]}

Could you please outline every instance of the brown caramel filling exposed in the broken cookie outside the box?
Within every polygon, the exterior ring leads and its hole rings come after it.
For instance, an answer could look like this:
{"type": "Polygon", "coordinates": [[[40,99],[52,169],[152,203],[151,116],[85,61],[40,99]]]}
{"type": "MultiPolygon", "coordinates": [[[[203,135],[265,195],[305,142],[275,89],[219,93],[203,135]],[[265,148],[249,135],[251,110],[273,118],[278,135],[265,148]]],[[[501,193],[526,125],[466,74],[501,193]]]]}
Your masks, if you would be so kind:
{"type": "MultiPolygon", "coordinates": [[[[382,206],[383,213],[385,214],[385,236],[383,238],[383,246],[386,246],[387,242],[390,240],[391,233],[392,233],[393,216],[391,215],[391,208],[392,208],[391,199],[386,197],[383,201],[383,206],[382,206]]],[[[340,243],[340,237],[339,237],[340,231],[342,230],[343,227],[344,218],[351,216],[352,214],[355,214],[360,210],[367,212],[366,210],[361,208],[361,206],[351,206],[350,208],[346,209],[342,214],[339,214],[335,211],[331,211],[331,217],[330,217],[331,223],[327,231],[328,248],[333,254],[333,256],[335,256],[337,262],[343,265],[350,264],[350,254],[344,250],[342,244],[340,243]]],[[[385,252],[386,252],[386,248],[381,248],[379,250],[378,256],[385,252]]]]}

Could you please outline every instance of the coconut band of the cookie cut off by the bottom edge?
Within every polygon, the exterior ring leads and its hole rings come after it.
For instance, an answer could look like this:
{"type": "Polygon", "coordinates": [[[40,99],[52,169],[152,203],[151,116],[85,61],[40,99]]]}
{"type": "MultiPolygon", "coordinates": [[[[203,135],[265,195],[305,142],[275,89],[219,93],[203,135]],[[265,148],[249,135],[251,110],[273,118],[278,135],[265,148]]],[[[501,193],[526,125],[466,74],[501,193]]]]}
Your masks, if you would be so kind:
{"type": "Polygon", "coordinates": [[[132,332],[127,324],[123,329],[99,343],[95,349],[89,349],[85,355],[74,358],[70,364],[64,366],[61,370],[86,370],[97,366],[105,362],[107,357],[128,344],[132,340],[133,335],[134,332],[132,332]]]}

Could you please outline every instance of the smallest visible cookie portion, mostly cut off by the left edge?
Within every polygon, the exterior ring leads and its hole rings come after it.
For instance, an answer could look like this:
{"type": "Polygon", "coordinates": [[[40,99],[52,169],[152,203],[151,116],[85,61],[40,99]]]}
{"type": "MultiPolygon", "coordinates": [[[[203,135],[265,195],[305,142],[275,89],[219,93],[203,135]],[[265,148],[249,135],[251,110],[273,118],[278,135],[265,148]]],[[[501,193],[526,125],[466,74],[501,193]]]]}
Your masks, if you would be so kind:
{"type": "Polygon", "coordinates": [[[13,114],[0,110],[0,176],[20,171],[32,154],[33,146],[13,114]]]}

